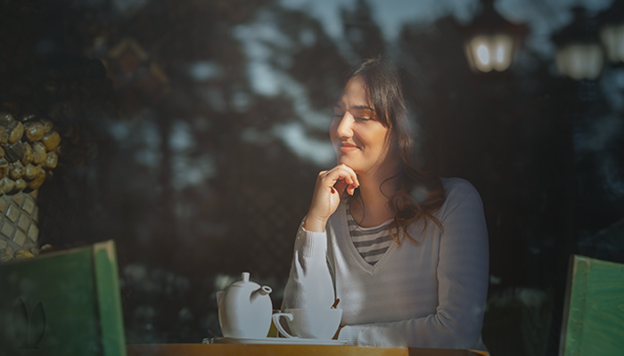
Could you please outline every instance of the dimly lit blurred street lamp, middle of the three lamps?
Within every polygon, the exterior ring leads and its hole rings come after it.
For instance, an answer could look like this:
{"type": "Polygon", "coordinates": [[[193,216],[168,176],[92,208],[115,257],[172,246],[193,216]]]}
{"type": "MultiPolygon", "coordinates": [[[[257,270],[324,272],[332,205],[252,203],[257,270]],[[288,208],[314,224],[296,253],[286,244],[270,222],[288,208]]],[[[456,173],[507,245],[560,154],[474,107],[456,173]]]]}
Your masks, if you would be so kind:
{"type": "Polygon", "coordinates": [[[598,21],[575,7],[574,20],[553,35],[559,72],[575,80],[595,80],[603,70],[603,47],[598,41],[598,21]]]}

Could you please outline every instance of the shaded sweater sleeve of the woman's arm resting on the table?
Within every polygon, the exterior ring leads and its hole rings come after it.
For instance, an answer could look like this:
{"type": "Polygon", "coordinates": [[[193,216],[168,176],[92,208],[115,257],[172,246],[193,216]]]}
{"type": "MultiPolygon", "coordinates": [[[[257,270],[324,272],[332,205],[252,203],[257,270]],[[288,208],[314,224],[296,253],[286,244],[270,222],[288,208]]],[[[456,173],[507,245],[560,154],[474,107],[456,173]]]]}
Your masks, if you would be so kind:
{"type": "Polygon", "coordinates": [[[359,345],[485,350],[480,329],[488,291],[488,233],[479,194],[470,183],[456,180],[447,190],[440,223],[436,312],[417,319],[345,326],[340,340],[359,345]]]}

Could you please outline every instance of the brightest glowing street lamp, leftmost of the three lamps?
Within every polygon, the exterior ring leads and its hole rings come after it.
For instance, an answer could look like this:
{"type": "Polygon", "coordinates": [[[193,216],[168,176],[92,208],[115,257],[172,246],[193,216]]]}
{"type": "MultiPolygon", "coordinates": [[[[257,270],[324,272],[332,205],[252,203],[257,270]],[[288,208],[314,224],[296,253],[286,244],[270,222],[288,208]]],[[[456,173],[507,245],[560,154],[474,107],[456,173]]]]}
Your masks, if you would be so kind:
{"type": "Polygon", "coordinates": [[[504,71],[515,57],[526,26],[505,20],[494,9],[494,0],[481,0],[483,11],[463,28],[464,51],[474,72],[504,71]]]}

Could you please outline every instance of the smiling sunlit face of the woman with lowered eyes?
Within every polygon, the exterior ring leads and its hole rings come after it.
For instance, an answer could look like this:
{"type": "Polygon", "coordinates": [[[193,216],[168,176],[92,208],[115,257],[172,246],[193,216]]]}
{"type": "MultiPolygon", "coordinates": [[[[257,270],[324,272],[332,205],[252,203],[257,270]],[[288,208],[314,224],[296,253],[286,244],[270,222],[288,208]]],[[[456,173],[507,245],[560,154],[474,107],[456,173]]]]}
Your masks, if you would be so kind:
{"type": "Polygon", "coordinates": [[[361,77],[353,77],[333,107],[330,127],[333,150],[338,164],[356,174],[374,174],[398,165],[396,150],[390,150],[390,129],[375,117],[361,77]]]}

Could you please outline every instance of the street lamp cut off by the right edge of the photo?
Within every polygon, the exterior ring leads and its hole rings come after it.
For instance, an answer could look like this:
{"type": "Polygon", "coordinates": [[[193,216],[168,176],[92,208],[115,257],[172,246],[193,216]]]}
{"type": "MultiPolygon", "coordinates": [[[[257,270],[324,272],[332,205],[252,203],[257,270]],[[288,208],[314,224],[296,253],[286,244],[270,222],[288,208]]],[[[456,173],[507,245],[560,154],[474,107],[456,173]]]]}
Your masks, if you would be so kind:
{"type": "Polygon", "coordinates": [[[624,0],[616,0],[600,17],[604,23],[600,39],[607,58],[613,63],[624,62],[624,0]]]}

